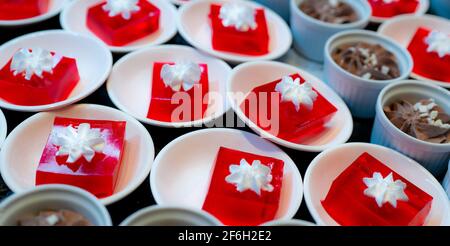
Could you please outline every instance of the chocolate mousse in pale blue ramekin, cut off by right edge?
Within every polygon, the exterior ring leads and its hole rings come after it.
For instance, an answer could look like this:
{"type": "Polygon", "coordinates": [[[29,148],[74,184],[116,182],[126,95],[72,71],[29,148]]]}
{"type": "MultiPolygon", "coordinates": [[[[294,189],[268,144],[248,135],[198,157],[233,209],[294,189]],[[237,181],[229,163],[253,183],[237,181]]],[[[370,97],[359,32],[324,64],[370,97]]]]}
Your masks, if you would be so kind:
{"type": "Polygon", "coordinates": [[[378,96],[370,142],[398,150],[415,159],[434,176],[441,178],[447,170],[450,142],[445,140],[444,134],[448,134],[445,129],[442,127],[437,129],[424,124],[426,118],[430,118],[430,116],[437,120],[432,113],[434,110],[442,110],[439,118],[444,122],[438,122],[437,125],[448,122],[449,91],[423,81],[407,80],[391,84],[385,87],[378,96]],[[432,104],[429,103],[430,99],[432,99],[432,104]],[[420,114],[412,115],[414,112],[409,112],[411,107],[405,101],[412,104],[413,107],[417,102],[420,102],[420,105],[431,105],[432,109],[429,113],[424,113],[416,106],[420,114]],[[402,112],[398,112],[398,103],[403,104],[400,108],[402,112]],[[440,109],[437,109],[438,107],[440,109]],[[414,117],[425,119],[420,119],[418,122],[414,117]]]}

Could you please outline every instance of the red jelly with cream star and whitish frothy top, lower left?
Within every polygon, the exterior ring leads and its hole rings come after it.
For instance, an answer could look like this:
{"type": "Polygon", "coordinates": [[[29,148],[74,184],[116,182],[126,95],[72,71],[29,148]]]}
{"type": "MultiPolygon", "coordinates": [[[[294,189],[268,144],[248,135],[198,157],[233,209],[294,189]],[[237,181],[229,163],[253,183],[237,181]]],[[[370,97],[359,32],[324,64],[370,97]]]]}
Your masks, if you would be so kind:
{"type": "Polygon", "coordinates": [[[125,145],[124,121],[55,118],[36,185],[67,184],[99,198],[113,194],[125,145]]]}

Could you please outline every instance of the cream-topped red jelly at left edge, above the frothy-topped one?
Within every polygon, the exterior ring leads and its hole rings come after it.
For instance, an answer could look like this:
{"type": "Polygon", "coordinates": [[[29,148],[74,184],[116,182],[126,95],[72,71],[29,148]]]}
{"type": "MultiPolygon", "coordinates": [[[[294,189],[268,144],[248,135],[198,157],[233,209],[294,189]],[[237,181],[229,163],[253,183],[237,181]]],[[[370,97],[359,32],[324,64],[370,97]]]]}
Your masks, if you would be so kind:
{"type": "Polygon", "coordinates": [[[51,104],[67,99],[79,80],[75,59],[20,49],[0,70],[0,98],[16,105],[51,104]]]}

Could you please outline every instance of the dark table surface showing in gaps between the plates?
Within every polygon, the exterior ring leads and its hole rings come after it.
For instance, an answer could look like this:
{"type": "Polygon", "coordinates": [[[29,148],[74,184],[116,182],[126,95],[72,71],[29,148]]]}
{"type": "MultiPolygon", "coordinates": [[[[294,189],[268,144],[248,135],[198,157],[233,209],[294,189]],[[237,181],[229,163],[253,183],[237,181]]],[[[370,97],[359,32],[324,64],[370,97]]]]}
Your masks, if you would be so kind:
{"type": "MultiPolygon", "coordinates": [[[[369,29],[374,29],[375,27],[369,27],[369,29]]],[[[21,28],[0,28],[0,45],[7,42],[15,37],[36,32],[40,30],[49,29],[61,29],[59,24],[59,16],[49,19],[47,21],[21,28]]],[[[179,35],[175,36],[169,43],[175,44],[186,44],[188,45],[179,35]]],[[[122,55],[114,54],[114,61],[117,61],[122,55]]],[[[102,104],[109,107],[116,108],[114,104],[108,97],[106,92],[106,86],[103,85],[92,95],[80,101],[79,103],[93,103],[102,104]]],[[[3,113],[8,122],[8,133],[11,132],[18,124],[33,115],[33,113],[23,113],[15,112],[6,109],[2,109],[3,113]]],[[[354,118],[354,129],[353,134],[349,142],[370,142],[370,132],[372,129],[373,120],[357,119],[354,118]]],[[[186,134],[191,131],[199,130],[200,128],[161,128],[156,126],[145,125],[147,130],[150,132],[154,144],[155,144],[155,154],[157,155],[159,151],[166,146],[169,142],[175,138],[186,134]]],[[[252,132],[248,127],[240,128],[241,130],[252,132]]],[[[292,150],[288,148],[281,147],[297,164],[302,177],[306,172],[306,168],[309,163],[316,157],[318,153],[302,152],[297,150],[292,150]]],[[[0,178],[0,200],[10,195],[11,191],[3,183],[0,178]]],[[[127,216],[136,212],[137,210],[154,205],[155,200],[152,197],[150,191],[149,179],[145,181],[130,195],[124,199],[116,202],[112,205],[107,206],[114,224],[119,224],[127,216]]],[[[304,201],[302,201],[301,207],[295,215],[296,219],[303,219],[308,221],[313,221],[304,201]]]]}

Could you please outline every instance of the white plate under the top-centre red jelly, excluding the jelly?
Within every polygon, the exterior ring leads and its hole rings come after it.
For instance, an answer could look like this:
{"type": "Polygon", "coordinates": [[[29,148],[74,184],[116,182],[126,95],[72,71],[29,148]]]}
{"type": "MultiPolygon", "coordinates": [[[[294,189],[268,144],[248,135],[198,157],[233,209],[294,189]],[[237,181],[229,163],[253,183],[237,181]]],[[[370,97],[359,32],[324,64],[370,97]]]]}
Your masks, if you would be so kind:
{"type": "MultiPolygon", "coordinates": [[[[262,5],[239,1],[253,7],[264,8],[262,5]]],[[[240,55],[230,52],[216,51],[211,45],[211,28],[209,24],[209,7],[211,3],[224,3],[224,0],[198,0],[183,4],[179,11],[178,30],[183,38],[191,45],[213,56],[228,62],[241,63],[255,60],[273,60],[288,51],[292,44],[292,34],[288,25],[275,12],[264,8],[269,28],[269,53],[262,56],[240,55]]]]}

